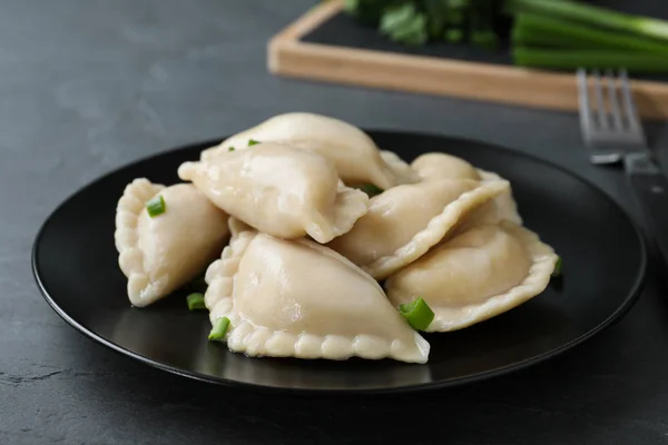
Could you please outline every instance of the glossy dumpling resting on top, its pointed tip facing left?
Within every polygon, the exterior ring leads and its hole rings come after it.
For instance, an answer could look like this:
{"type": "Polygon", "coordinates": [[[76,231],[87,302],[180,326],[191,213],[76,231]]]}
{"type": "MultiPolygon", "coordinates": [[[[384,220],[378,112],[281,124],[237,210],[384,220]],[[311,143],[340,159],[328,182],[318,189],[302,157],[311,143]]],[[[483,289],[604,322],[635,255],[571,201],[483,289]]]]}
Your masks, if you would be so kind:
{"type": "Polygon", "coordinates": [[[308,234],[327,243],[348,231],[369,206],[366,194],[345,187],[327,159],[278,144],[185,162],[178,176],[230,216],[286,239],[308,234]]]}

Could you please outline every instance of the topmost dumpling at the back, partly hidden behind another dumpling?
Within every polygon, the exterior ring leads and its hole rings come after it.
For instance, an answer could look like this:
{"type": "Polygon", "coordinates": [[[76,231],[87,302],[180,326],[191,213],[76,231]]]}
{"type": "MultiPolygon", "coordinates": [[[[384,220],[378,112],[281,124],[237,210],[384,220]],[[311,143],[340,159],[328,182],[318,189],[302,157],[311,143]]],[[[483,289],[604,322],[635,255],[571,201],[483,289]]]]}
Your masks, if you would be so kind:
{"type": "Polygon", "coordinates": [[[308,112],[288,112],[265,120],[204,150],[202,159],[259,142],[279,142],[315,151],[330,159],[346,185],[373,184],[383,190],[397,184],[415,182],[414,175],[399,157],[383,159],[374,141],[343,120],[308,112]]]}

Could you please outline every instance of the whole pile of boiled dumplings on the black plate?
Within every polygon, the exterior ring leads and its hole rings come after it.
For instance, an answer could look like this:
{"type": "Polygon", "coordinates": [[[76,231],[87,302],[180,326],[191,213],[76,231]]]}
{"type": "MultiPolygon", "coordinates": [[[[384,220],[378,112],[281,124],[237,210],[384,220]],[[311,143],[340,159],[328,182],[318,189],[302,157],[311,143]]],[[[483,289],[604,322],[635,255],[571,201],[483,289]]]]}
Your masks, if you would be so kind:
{"type": "Polygon", "coordinates": [[[426,363],[400,305],[429,305],[424,332],[461,329],[542,293],[558,258],[508,180],[440,152],[409,165],[325,116],[273,117],[178,176],[118,201],[128,297],[145,307],[205,273],[212,325],[247,356],[426,363]]]}

